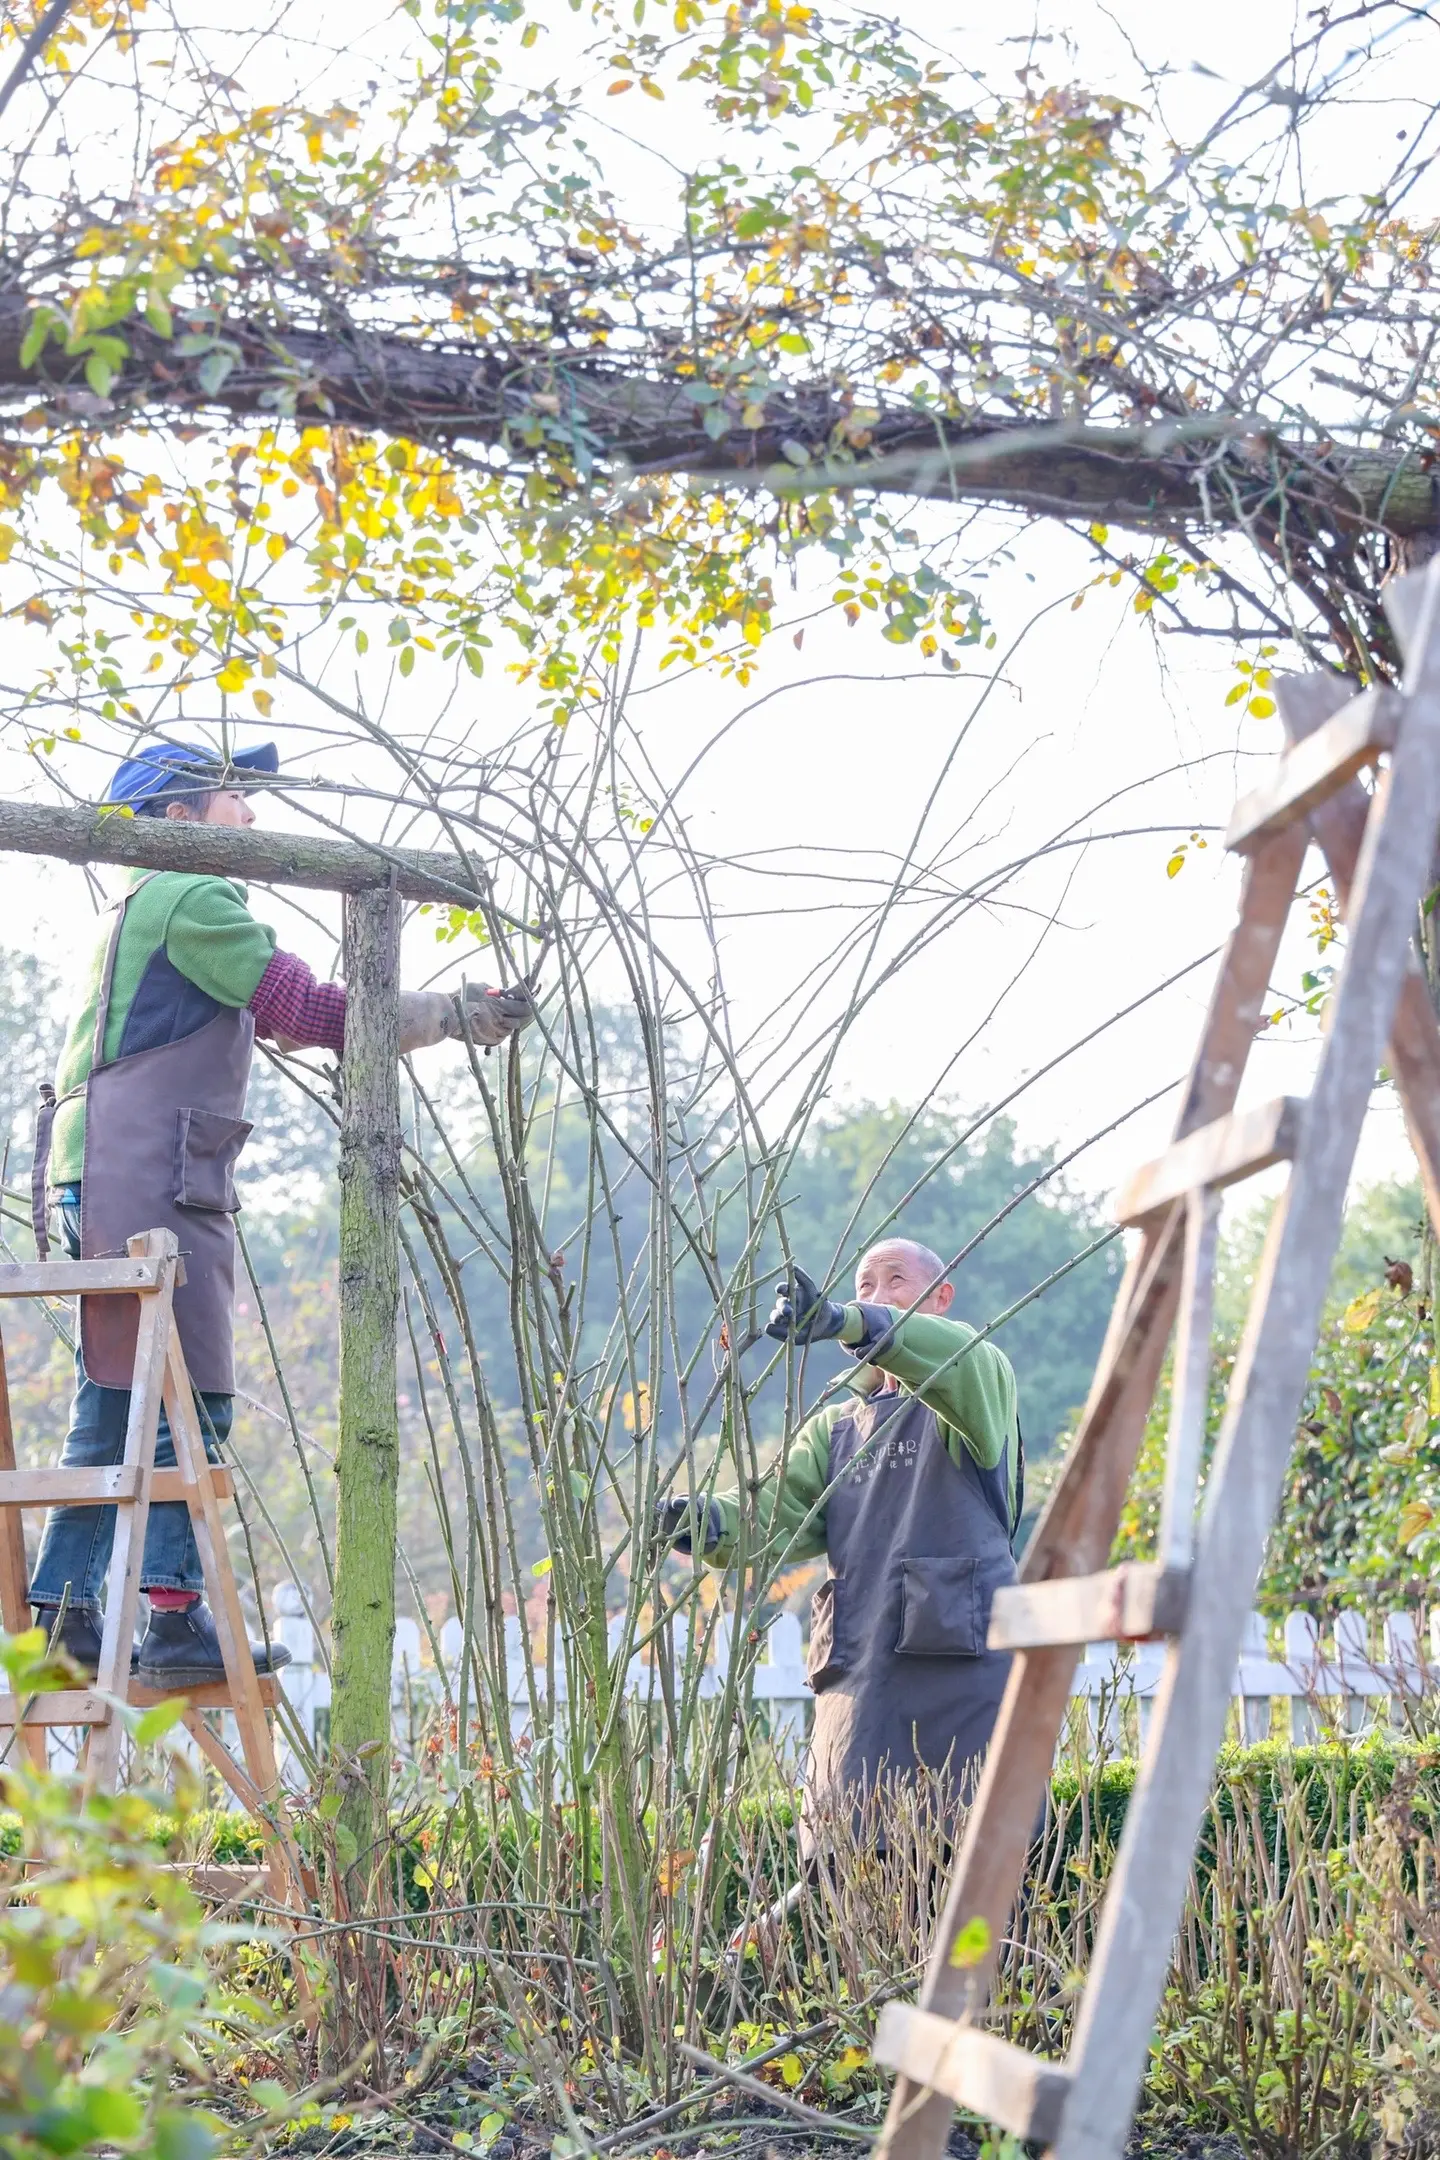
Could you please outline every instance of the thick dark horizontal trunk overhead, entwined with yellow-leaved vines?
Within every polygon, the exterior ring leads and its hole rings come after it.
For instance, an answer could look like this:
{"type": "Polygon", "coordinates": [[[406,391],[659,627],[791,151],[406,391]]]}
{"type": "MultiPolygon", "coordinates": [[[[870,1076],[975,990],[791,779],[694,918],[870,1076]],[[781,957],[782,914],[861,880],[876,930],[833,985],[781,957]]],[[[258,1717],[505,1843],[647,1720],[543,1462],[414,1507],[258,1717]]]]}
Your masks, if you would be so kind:
{"type": "Polygon", "coordinates": [[[28,296],[0,294],[0,404],[50,408],[58,426],[117,428],[130,413],[270,423],[283,391],[302,423],[501,447],[520,464],[559,460],[589,471],[594,462],[607,484],[693,473],[777,495],[924,495],[1155,534],[1274,527],[1285,505],[1339,529],[1405,536],[1436,527],[1427,454],[1291,443],[1244,413],[1144,426],[1034,423],[911,404],[861,415],[853,393],[820,380],[775,389],[762,426],[745,428],[747,395],[702,410],[693,374],[639,356],[445,346],[356,324],[315,330],[240,315],[220,326],[235,363],[218,389],[201,382],[201,356],[130,322],[130,359],[110,395],[97,397],[84,354],[67,356],[58,343],[22,367],[28,322],[28,296]],[[710,426],[715,415],[728,421],[719,438],[706,432],[706,413],[710,426]]]}

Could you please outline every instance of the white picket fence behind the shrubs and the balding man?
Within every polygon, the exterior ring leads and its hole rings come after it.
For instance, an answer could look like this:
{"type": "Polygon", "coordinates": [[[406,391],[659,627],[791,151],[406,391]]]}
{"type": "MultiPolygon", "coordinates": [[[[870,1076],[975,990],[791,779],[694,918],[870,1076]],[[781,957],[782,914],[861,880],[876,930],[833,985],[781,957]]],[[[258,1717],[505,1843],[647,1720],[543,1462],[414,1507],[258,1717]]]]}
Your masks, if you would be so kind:
{"type": "MultiPolygon", "coordinates": [[[[611,1648],[624,1633],[624,1616],[609,1624],[611,1648]]],[[[304,1598],[294,1583],[274,1592],[272,1635],[291,1652],[285,1668],[285,1696],[298,1724],[311,1739],[328,1711],[330,1678],[315,1655],[315,1631],[304,1616],[304,1598]]],[[[1293,1611],[1280,1631],[1280,1655],[1272,1655],[1269,1629],[1250,1614],[1246,1639],[1235,1665],[1233,1693],[1239,1732],[1248,1741],[1272,1734],[1276,1702],[1282,1704],[1282,1728],[1276,1739],[1293,1743],[1319,1739],[1326,1730],[1360,1734],[1377,1724],[1405,1724],[1410,1709],[1440,1693],[1440,1609],[1421,1629],[1414,1614],[1390,1614],[1371,1642],[1371,1618],[1364,1611],[1343,1611],[1330,1639],[1310,1614],[1293,1611]],[[1287,1730],[1285,1730],[1287,1726],[1287,1730]]],[[[456,1693],[464,1633],[460,1620],[447,1620],[438,1635],[443,1670],[430,1655],[430,1644],[415,1620],[395,1624],[395,1661],[391,1680],[395,1745],[410,1754],[427,1715],[447,1691],[456,1693]]],[[[674,1661],[684,1665],[684,1620],[676,1622],[674,1661]]],[[[730,1618],[719,1616],[712,1629],[710,1659],[699,1693],[715,1698],[725,1685],[732,1657],[730,1618]]],[[[1166,1646],[1144,1642],[1116,1646],[1090,1644],[1075,1670],[1073,1698],[1086,1706],[1082,1730],[1099,1747],[1125,1745],[1127,1732],[1149,1726],[1151,1704],[1164,1672],[1166,1646]],[[1133,1704],[1133,1711],[1131,1711],[1133,1704]]],[[[510,1674],[510,1724],[516,1739],[531,1730],[531,1693],[525,1674],[520,1622],[505,1620],[505,1670],[510,1674]]],[[[544,1672],[535,1674],[544,1698],[544,1672]]],[[[769,1713],[771,1734],[782,1747],[797,1750],[805,1739],[807,1711],[814,1700],[805,1683],[805,1650],[794,1614],[779,1614],[751,1672],[751,1698],[769,1713]]],[[[626,1687],[637,1702],[658,1700],[658,1672],[646,1657],[633,1657],[626,1687]]],[[[563,1702],[563,1670],[557,1674],[557,1700],[563,1702]]],[[[302,1782],[298,1758],[287,1752],[287,1776],[302,1782]]]]}

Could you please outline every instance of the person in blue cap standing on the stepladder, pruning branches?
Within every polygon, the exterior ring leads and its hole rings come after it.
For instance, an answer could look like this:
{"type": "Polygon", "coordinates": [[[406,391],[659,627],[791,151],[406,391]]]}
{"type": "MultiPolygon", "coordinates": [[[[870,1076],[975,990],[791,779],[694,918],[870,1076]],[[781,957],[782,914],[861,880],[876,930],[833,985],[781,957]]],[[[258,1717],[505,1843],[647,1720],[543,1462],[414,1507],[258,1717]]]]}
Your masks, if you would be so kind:
{"type": "MultiPolygon", "coordinates": [[[[119,767],[106,804],[134,816],[201,825],[253,825],[244,780],[279,771],[272,743],[222,758],[153,743],[119,767]]],[[[73,1259],[125,1251],[138,1231],[173,1229],[186,1266],[175,1322],[203,1404],[207,1445],[227,1439],[235,1395],[235,1158],[250,1128],[246,1080],[257,1035],[283,1050],[339,1052],[345,989],[317,983],[304,961],[279,953],[274,931],[246,907],[242,886],[184,870],[130,870],[114,922],[95,948],[71,1020],[56,1089],[35,1143],[35,1236],[47,1255],[47,1205],[60,1210],[73,1259]],[[58,1095],[58,1102],[56,1102],[58,1095]]],[[[464,1022],[477,1043],[501,1043],[531,1017],[525,989],[466,987],[464,1022]]],[[[464,1032],[460,1002],[443,991],[402,991],[402,1054],[464,1032]]],[[[82,1298],[76,1402],[60,1462],[95,1469],[125,1452],[138,1298],[82,1298]]],[[[175,1443],[160,1417],[155,1464],[173,1467],[175,1443]]],[[[99,1590],[110,1566],[114,1508],[52,1508],[30,1583],[41,1626],[93,1674],[99,1661],[99,1590]]],[[[149,1510],[145,1572],[149,1629],[136,1655],[145,1687],[188,1689],[225,1678],[190,1510],[149,1510]]],[[[289,1650],[253,1648],[274,1672],[289,1650]]]]}

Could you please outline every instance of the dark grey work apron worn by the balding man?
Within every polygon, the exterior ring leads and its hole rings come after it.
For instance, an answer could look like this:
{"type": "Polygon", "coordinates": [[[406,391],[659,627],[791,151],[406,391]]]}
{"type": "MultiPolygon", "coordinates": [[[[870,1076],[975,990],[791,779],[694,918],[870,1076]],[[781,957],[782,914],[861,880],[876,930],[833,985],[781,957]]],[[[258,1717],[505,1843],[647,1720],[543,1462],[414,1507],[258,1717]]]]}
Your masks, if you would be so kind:
{"type": "Polygon", "coordinates": [[[948,1767],[965,1795],[1010,1670],[984,1648],[991,1598],[1015,1581],[995,1475],[969,1456],[952,1462],[935,1413],[889,1391],[836,1421],[829,1477],[831,1579],[810,1618],[807,1849],[825,1814],[881,1773],[948,1767]]]}

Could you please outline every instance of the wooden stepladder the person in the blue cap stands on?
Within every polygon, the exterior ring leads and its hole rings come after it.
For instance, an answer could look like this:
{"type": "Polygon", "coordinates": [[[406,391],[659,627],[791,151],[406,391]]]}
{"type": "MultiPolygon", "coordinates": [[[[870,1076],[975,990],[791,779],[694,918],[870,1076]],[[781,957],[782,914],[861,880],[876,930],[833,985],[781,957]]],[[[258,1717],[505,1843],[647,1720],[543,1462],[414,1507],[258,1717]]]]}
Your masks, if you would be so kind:
{"type": "Polygon", "coordinates": [[[0,1734],[6,1728],[17,1728],[30,1758],[43,1765],[45,1726],[86,1728],[86,1782],[114,1786],[125,1734],[114,1709],[117,1702],[145,1706],[166,1700],[164,1693],[140,1687],[130,1674],[130,1650],[140,1609],[145,1525],[153,1501],[184,1501],[190,1508],[205,1594],[225,1657],[222,1683],[186,1693],[184,1722],[242,1806],[266,1825],[270,1834],[270,1890],[276,1903],[289,1905],[300,1879],[298,1855],[289,1834],[268,1719],[276,1704],[279,1680],[257,1674],[250,1659],[235,1570],[220,1521],[220,1501],[233,1497],[233,1484],[231,1473],[205,1454],[186,1354],[175,1328],[177,1268],[179,1246],[173,1231],[164,1229],[132,1238],[125,1259],[0,1266],[0,1298],[54,1298],[80,1292],[140,1298],[125,1454],[110,1469],[15,1469],[4,1346],[0,1344],[0,1620],[6,1629],[30,1626],[22,1508],[97,1503],[117,1510],[110,1592],[93,1687],[60,1689],[28,1700],[0,1696],[0,1734]],[[175,1469],[155,1469],[162,1402],[175,1439],[175,1469]],[[242,1763],[205,1724],[205,1711],[214,1709],[233,1711],[242,1763]]]}

